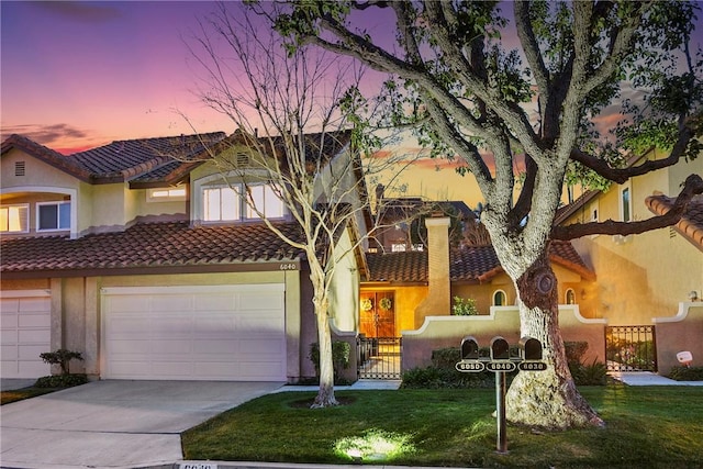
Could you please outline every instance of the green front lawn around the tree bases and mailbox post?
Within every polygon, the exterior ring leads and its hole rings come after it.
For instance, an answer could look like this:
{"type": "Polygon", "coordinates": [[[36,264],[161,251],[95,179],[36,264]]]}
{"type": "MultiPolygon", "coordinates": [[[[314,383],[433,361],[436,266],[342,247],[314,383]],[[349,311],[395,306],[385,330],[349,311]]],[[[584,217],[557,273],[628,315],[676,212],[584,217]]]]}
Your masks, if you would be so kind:
{"type": "MultiPolygon", "coordinates": [[[[368,450],[365,464],[525,468],[701,468],[703,387],[606,387],[581,392],[605,428],[533,432],[509,426],[507,455],[495,453],[495,392],[344,391],[346,405],[310,410],[314,393],[256,399],[182,435],[186,459],[348,464],[360,439],[399,440],[368,450]],[[339,448],[335,451],[335,446],[339,448]],[[388,445],[387,445],[388,446],[388,445]],[[383,453],[391,456],[382,456],[383,453]],[[394,453],[393,453],[394,451],[394,453]],[[370,455],[370,456],[369,456],[370,455]]],[[[364,451],[357,449],[356,456],[364,451]]],[[[356,462],[359,462],[357,459],[356,462]]]]}

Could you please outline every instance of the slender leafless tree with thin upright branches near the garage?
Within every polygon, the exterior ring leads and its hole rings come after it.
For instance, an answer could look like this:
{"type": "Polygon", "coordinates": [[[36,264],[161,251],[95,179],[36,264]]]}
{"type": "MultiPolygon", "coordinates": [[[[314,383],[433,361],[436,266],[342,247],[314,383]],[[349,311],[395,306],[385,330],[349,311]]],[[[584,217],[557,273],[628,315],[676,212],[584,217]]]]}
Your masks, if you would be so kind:
{"type": "Polygon", "coordinates": [[[372,112],[359,90],[362,67],[322,51],[287,49],[268,21],[242,4],[220,3],[189,47],[204,70],[199,96],[236,129],[210,147],[223,183],[246,202],[249,217],[305,255],[320,345],[313,407],[323,407],[337,404],[330,327],[335,275],[375,227],[365,181],[393,158],[361,160],[360,148],[380,143],[359,119],[372,112]],[[282,208],[301,236],[276,221],[282,208]]]}

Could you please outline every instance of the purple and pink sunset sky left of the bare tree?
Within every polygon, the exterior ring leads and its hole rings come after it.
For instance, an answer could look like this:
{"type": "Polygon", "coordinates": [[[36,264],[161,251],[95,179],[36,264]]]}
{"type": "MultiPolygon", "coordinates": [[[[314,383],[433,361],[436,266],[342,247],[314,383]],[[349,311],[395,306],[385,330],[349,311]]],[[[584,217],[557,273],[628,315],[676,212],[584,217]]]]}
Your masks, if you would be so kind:
{"type": "MultiPolygon", "coordinates": [[[[212,2],[3,0],[0,9],[2,139],[21,133],[71,153],[192,133],[176,110],[199,132],[233,131],[196,96],[197,66],[181,40],[212,2]]],[[[376,22],[368,26],[382,30],[376,22]]]]}

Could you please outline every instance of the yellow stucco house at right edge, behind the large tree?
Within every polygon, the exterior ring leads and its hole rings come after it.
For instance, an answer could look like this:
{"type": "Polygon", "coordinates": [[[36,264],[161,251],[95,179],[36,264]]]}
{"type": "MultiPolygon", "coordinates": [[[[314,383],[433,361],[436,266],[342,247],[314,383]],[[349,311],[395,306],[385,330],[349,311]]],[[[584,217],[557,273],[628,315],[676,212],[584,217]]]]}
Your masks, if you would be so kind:
{"type": "MultiPolygon", "coordinates": [[[[651,152],[647,158],[657,158],[651,152]]],[[[638,164],[641,161],[631,161],[638,164]]],[[[703,175],[703,158],[632,178],[606,191],[589,191],[560,209],[556,223],[639,221],[665,213],[681,183],[703,175]]],[[[573,239],[587,265],[598,272],[594,317],[610,325],[651,324],[652,317],[677,314],[681,302],[703,291],[703,221],[701,200],[690,204],[670,228],[639,235],[595,235],[573,239]]]]}

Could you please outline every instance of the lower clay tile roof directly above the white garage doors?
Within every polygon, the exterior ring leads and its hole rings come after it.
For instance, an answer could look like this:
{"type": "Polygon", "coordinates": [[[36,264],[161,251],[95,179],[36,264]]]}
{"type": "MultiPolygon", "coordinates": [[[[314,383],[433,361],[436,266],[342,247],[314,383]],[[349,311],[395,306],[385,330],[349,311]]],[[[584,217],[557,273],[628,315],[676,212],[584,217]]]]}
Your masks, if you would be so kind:
{"type": "MultiPolygon", "coordinates": [[[[295,223],[279,230],[302,239],[295,223]]],[[[303,258],[263,223],[191,227],[188,222],[140,223],[120,233],[14,237],[0,242],[0,272],[214,266],[303,258]]]]}

